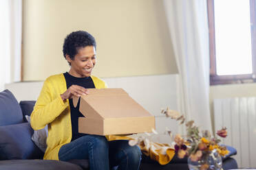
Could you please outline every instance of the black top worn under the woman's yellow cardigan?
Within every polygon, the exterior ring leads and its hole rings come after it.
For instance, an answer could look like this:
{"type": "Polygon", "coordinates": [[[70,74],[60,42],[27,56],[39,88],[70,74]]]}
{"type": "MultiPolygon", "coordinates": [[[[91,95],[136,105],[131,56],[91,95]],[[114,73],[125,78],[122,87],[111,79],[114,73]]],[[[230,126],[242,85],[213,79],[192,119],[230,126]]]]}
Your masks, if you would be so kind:
{"type": "MultiPolygon", "coordinates": [[[[92,81],[92,77],[74,77],[69,73],[63,74],[67,83],[67,88],[72,85],[82,86],[84,88],[95,88],[94,82],[92,81]]],[[[70,112],[71,112],[71,124],[72,124],[72,140],[74,141],[76,138],[84,136],[86,134],[78,133],[78,117],[84,117],[81,112],[79,112],[79,102],[74,108],[73,100],[69,99],[70,101],[70,112]]]]}

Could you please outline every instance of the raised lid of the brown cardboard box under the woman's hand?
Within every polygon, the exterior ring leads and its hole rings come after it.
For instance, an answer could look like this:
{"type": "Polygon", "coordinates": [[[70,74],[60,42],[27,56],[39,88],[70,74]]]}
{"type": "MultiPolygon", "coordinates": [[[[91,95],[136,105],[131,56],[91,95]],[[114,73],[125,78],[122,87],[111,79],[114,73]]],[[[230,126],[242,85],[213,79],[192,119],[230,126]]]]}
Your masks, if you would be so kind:
{"type": "MultiPolygon", "coordinates": [[[[73,98],[74,107],[78,101],[78,97],[73,98]]],[[[80,97],[79,110],[85,117],[94,119],[152,117],[122,88],[89,88],[89,95],[80,97]]]]}

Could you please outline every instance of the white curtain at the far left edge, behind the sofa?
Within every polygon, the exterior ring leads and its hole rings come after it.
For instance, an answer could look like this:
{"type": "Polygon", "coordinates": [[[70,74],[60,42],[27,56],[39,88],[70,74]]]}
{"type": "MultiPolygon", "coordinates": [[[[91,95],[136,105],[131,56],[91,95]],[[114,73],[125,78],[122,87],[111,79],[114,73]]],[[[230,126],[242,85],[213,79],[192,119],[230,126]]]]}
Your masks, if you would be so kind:
{"type": "Polygon", "coordinates": [[[21,81],[22,0],[0,1],[0,91],[21,81]]]}

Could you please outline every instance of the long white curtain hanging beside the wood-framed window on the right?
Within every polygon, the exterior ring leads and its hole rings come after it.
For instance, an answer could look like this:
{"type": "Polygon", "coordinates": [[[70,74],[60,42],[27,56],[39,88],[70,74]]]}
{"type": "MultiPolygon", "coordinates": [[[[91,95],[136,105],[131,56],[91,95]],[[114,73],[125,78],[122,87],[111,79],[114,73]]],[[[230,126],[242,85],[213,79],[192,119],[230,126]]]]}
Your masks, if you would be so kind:
{"type": "Polygon", "coordinates": [[[212,132],[206,0],[164,0],[164,10],[179,69],[180,112],[212,132]]]}

